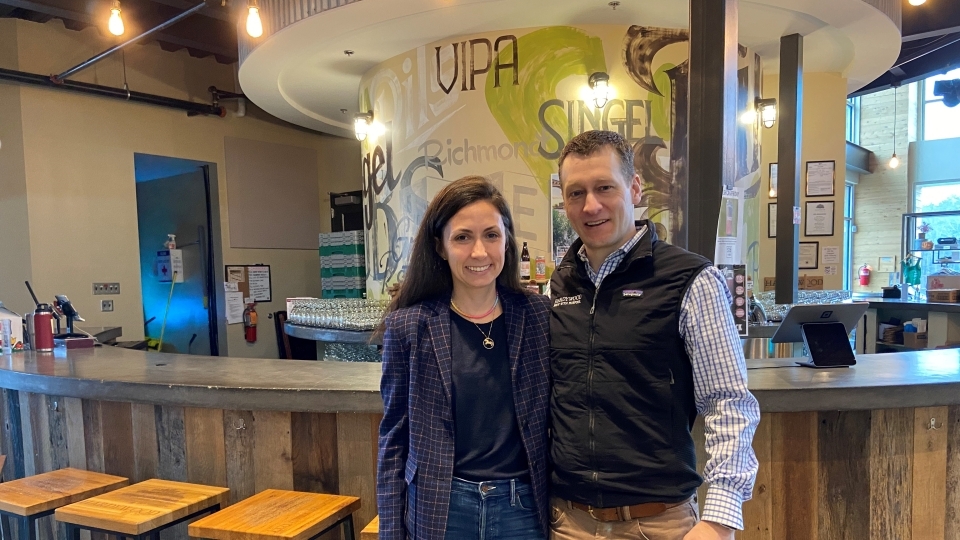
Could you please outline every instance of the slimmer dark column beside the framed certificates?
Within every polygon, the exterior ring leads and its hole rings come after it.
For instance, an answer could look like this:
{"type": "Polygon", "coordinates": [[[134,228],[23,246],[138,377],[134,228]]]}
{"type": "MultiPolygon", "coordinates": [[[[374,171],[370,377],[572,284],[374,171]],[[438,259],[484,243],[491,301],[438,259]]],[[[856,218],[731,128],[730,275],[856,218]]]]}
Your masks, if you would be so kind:
{"type": "Polygon", "coordinates": [[[797,302],[800,226],[793,208],[800,206],[800,160],[803,123],[803,36],[780,38],[780,97],[777,102],[777,287],[776,303],[797,302]]]}

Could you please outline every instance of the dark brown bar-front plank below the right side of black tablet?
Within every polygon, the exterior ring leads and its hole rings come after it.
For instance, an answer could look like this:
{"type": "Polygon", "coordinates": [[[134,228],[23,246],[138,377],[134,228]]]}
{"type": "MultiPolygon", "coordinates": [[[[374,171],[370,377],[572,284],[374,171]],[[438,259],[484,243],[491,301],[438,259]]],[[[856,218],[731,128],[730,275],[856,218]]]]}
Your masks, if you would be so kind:
{"type": "Polygon", "coordinates": [[[870,411],[818,414],[820,540],[858,540],[870,530],[870,411]]]}

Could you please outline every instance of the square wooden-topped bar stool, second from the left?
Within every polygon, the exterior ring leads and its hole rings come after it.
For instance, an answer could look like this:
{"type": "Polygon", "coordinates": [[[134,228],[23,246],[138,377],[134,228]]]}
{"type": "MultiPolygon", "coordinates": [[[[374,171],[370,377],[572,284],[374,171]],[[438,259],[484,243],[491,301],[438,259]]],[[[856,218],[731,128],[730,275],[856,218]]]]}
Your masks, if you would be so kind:
{"type": "Polygon", "coordinates": [[[216,512],[229,493],[223,487],[154,479],[58,508],[54,515],[66,524],[68,540],[79,540],[81,530],[157,540],[163,529],[216,512]]]}

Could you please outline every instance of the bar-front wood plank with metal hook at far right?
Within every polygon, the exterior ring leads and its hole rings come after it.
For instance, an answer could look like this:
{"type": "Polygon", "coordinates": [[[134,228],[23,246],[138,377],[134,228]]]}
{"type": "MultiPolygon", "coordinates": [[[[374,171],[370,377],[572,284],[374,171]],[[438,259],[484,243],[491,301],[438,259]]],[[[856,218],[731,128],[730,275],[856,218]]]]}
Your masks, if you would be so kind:
{"type": "Polygon", "coordinates": [[[943,540],[947,500],[947,407],[914,409],[913,537],[943,540]]]}

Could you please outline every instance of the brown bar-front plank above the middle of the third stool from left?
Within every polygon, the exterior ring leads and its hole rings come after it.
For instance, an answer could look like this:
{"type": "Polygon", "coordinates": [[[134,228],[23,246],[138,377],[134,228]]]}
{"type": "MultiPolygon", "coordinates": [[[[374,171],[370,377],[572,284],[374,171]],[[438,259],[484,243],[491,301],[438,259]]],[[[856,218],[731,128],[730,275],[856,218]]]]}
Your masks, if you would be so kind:
{"type": "Polygon", "coordinates": [[[293,489],[293,449],[290,437],[290,413],[254,411],[253,413],[254,487],[293,489]]]}

